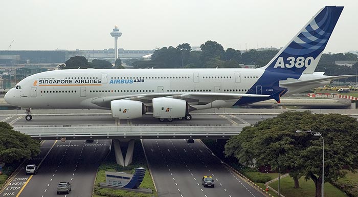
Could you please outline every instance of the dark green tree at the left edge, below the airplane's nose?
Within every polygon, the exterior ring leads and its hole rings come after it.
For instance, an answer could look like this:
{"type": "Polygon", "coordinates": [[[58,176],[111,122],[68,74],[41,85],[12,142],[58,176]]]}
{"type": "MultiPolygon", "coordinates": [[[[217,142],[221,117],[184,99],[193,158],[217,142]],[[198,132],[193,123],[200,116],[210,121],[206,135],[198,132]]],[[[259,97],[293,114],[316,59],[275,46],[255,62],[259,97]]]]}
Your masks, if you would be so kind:
{"type": "Polygon", "coordinates": [[[31,159],[39,153],[38,141],[13,130],[6,122],[0,122],[0,163],[31,159]]]}

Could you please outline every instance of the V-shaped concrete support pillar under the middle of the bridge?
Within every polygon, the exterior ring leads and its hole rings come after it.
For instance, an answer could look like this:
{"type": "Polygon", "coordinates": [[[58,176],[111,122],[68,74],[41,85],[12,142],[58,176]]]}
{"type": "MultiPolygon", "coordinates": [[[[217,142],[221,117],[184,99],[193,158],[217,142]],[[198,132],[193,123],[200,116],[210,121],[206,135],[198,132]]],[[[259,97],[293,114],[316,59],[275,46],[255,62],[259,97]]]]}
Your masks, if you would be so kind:
{"type": "Polygon", "coordinates": [[[135,140],[118,140],[118,139],[112,140],[117,164],[122,166],[128,166],[129,164],[132,163],[134,142],[135,140]],[[126,151],[125,157],[123,157],[122,150],[126,151]]]}

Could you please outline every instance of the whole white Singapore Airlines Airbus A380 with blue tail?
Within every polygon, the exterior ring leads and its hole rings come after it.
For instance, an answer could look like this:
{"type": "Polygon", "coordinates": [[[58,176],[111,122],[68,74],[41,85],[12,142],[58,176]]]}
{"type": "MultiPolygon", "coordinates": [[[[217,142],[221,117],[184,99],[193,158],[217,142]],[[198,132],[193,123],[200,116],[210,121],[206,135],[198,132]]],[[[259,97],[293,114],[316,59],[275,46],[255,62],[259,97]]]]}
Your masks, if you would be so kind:
{"type": "MultiPolygon", "coordinates": [[[[264,67],[258,69],[76,69],[31,75],[5,100],[31,109],[111,110],[113,118],[191,120],[194,110],[247,105],[304,92],[333,79],[314,72],[343,7],[326,6],[264,67]]],[[[292,25],[291,25],[292,26],[292,25]]]]}

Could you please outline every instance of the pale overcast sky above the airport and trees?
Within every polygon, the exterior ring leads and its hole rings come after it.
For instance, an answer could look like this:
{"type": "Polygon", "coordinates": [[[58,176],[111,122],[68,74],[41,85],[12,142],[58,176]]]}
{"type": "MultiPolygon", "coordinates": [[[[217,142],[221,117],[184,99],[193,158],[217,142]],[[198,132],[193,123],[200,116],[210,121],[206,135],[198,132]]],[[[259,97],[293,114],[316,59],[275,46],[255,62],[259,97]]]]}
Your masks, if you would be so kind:
{"type": "Polygon", "coordinates": [[[0,5],[0,50],[151,50],[207,40],[244,50],[283,47],[326,5],[345,6],[324,52],[358,50],[358,1],[11,0],[0,5]]]}

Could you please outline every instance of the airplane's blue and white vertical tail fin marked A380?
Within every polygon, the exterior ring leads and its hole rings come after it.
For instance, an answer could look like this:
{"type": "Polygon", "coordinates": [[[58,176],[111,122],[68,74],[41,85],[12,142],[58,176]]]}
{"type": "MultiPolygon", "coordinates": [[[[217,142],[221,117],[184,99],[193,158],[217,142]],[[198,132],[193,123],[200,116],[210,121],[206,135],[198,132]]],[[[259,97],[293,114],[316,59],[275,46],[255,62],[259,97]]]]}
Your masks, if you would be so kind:
{"type": "Polygon", "coordinates": [[[275,72],[314,73],[343,7],[326,6],[261,69],[275,72]]]}

